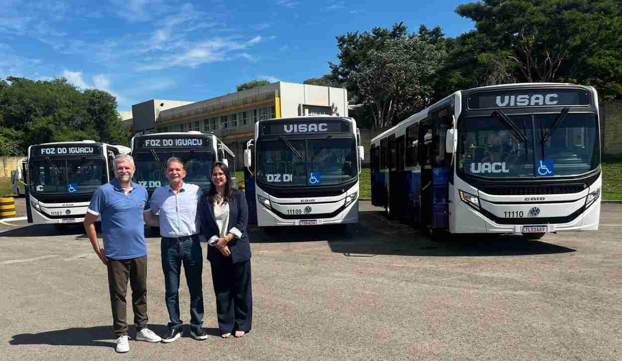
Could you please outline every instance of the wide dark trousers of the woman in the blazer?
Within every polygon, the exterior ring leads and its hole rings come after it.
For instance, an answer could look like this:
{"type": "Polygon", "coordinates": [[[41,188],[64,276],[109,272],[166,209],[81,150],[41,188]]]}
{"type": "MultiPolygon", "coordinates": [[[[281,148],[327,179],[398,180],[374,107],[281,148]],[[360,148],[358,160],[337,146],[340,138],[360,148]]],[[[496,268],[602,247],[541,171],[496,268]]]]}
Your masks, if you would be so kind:
{"type": "Polygon", "coordinates": [[[251,331],[253,292],[251,292],[251,261],[231,262],[221,257],[211,262],[211,279],[216,293],[216,313],[221,334],[251,331]]]}

